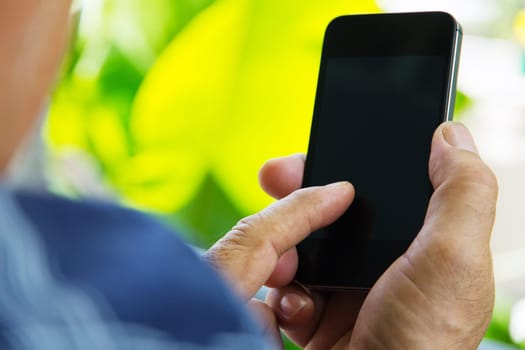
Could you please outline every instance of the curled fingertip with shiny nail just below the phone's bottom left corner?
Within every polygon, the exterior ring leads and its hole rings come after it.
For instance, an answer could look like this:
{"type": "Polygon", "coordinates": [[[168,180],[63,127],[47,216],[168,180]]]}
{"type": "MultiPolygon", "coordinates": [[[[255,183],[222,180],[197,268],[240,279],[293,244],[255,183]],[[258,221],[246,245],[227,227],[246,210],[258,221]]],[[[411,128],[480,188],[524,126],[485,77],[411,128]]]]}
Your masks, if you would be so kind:
{"type": "Polygon", "coordinates": [[[292,341],[301,347],[308,344],[324,310],[324,298],[320,294],[307,293],[303,288],[291,284],[271,289],[266,296],[266,303],[292,341]]]}

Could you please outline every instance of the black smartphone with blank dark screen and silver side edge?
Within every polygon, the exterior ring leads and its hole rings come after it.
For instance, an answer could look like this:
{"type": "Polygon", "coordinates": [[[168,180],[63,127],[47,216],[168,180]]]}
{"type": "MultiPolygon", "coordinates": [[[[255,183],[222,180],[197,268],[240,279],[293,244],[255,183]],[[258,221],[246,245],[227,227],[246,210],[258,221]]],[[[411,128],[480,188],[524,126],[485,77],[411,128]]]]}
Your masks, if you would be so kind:
{"type": "Polygon", "coordinates": [[[356,196],[298,245],[300,284],[369,289],[417,235],[433,191],[432,135],[454,110],[461,37],[443,12],[328,25],[303,187],[350,181],[356,196]]]}

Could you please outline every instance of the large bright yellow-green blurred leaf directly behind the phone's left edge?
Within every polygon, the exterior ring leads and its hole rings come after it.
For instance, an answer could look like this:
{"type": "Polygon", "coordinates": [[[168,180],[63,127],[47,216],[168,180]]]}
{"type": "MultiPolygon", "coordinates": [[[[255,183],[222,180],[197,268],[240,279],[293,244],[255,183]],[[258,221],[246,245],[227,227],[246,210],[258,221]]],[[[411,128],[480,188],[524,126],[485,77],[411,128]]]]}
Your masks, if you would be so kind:
{"type": "Polygon", "coordinates": [[[216,1],[142,84],[137,148],[201,154],[242,211],[260,209],[270,201],[257,184],[262,163],[306,150],[324,28],[377,10],[373,1],[216,1]]]}

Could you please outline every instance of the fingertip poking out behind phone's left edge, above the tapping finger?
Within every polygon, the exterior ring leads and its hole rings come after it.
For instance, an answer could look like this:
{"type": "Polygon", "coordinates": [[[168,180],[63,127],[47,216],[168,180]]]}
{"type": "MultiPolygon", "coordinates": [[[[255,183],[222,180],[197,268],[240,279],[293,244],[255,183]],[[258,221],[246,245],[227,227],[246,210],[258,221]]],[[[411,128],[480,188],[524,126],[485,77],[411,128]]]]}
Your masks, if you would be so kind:
{"type": "Polygon", "coordinates": [[[304,154],[275,158],[267,161],[259,171],[259,183],[270,196],[280,199],[301,187],[304,154]]]}

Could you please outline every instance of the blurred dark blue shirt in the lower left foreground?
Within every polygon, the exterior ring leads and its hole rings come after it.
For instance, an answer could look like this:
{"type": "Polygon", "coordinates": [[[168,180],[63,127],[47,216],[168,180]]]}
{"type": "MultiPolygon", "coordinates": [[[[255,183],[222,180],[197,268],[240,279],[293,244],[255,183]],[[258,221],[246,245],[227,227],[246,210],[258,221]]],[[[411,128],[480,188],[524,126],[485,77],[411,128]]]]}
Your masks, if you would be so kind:
{"type": "MultiPolygon", "coordinates": [[[[40,242],[53,280],[89,298],[106,324],[125,325],[125,338],[133,338],[130,329],[140,329],[141,334],[147,330],[172,344],[268,345],[259,325],[217,273],[151,217],[49,194],[16,192],[11,197],[18,221],[25,220],[40,242]]],[[[9,329],[9,320],[3,323],[2,328],[9,329]]]]}

